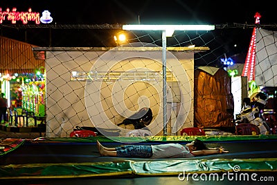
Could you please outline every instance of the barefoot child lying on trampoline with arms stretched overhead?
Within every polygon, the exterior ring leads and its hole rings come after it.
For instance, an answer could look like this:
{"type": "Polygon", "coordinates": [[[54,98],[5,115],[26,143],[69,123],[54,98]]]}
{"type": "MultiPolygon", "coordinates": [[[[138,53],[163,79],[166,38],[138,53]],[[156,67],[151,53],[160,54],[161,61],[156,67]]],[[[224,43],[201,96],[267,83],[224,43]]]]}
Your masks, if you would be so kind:
{"type": "Polygon", "coordinates": [[[101,156],[110,157],[136,157],[136,158],[181,158],[202,155],[215,155],[227,153],[224,148],[207,148],[203,141],[195,139],[185,146],[179,143],[166,143],[159,145],[127,145],[116,148],[107,148],[96,141],[101,156]]]}

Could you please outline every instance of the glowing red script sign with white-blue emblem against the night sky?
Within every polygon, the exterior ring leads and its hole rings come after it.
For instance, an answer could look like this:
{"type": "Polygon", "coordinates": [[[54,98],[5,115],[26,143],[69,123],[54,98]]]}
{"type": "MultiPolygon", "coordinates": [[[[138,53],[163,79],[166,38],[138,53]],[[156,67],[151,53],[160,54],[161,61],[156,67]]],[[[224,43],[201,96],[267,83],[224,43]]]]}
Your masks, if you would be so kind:
{"type": "Polygon", "coordinates": [[[28,24],[28,21],[34,21],[35,24],[49,24],[53,21],[53,18],[50,16],[51,13],[48,10],[42,12],[42,17],[39,16],[39,12],[32,12],[32,9],[29,8],[28,12],[18,12],[17,8],[7,8],[6,11],[2,11],[0,8],[0,24],[3,21],[11,21],[12,24],[16,24],[17,21],[21,21],[23,24],[28,24]]]}

